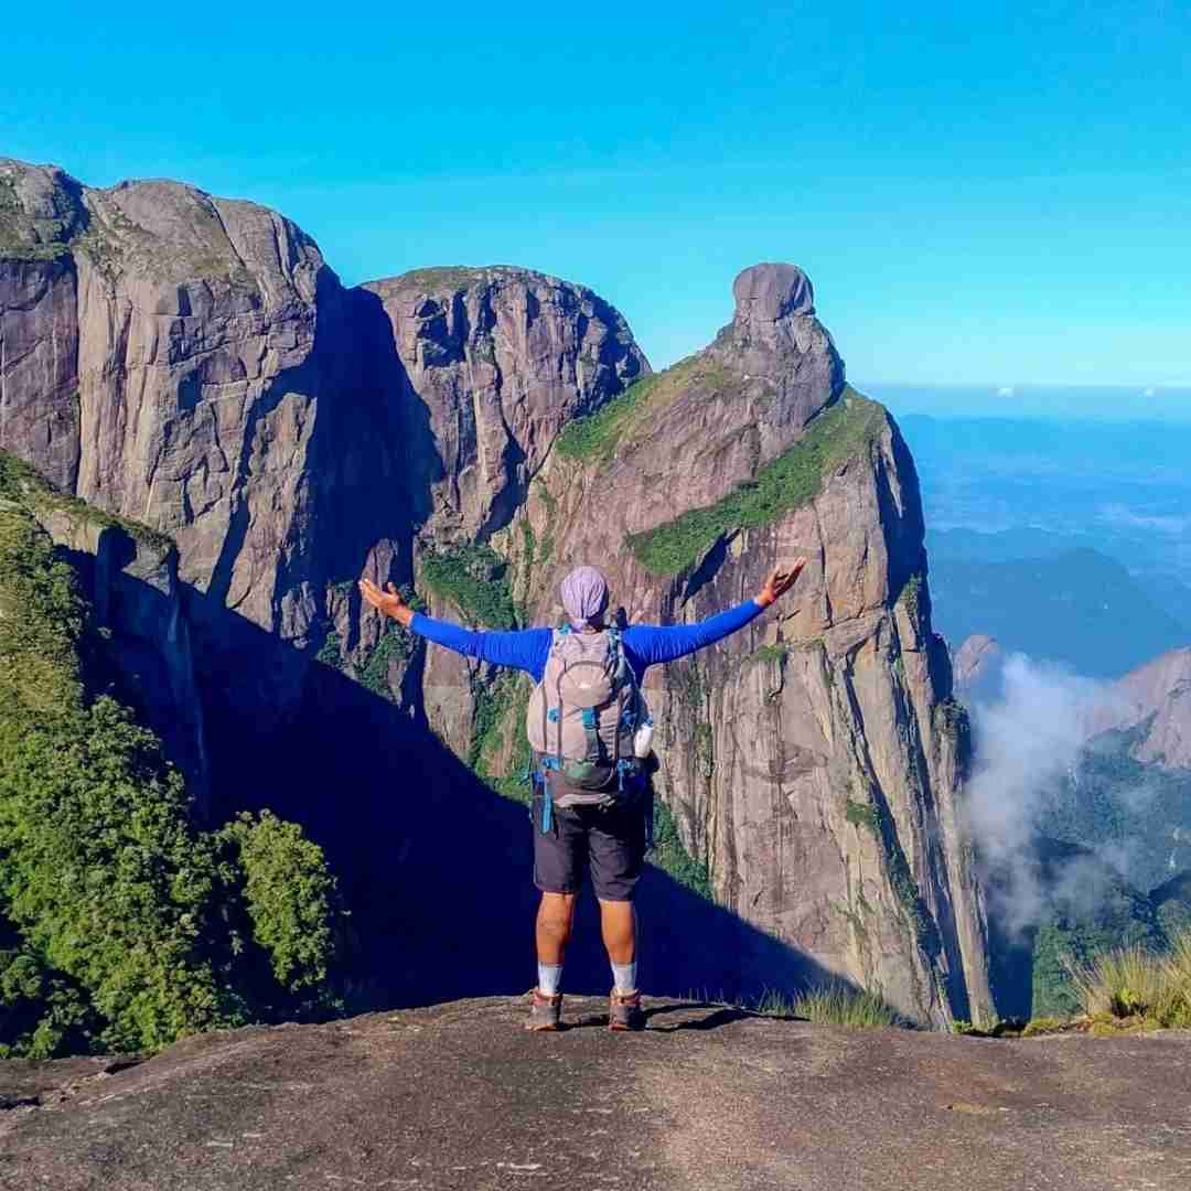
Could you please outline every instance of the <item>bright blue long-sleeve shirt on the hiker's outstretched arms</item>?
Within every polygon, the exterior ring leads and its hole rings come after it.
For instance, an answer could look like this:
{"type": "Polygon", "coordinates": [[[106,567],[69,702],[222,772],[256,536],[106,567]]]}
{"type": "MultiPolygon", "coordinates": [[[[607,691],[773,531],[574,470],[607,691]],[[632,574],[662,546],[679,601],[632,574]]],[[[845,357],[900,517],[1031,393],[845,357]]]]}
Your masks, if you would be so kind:
{"type": "MultiPolygon", "coordinates": [[[[646,671],[661,662],[686,657],[698,649],[713,646],[761,615],[763,607],[755,599],[746,600],[727,612],[698,624],[634,624],[624,630],[621,643],[624,656],[632,667],[640,685],[646,671]]],[[[511,666],[542,681],[550,653],[553,629],[520,629],[513,632],[488,632],[464,629],[449,621],[436,621],[416,612],[410,628],[428,641],[454,649],[466,657],[479,657],[493,666],[511,666]]]]}

